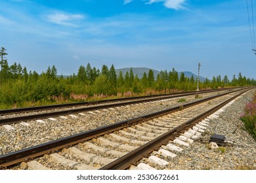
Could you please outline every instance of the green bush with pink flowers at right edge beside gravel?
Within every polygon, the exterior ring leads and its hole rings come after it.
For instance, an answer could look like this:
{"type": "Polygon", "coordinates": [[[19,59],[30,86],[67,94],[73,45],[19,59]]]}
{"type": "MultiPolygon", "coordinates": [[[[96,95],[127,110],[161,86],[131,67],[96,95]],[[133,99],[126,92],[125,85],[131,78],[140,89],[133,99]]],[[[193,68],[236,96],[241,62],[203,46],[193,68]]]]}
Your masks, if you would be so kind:
{"type": "Polygon", "coordinates": [[[256,92],[253,97],[253,101],[247,103],[244,109],[245,113],[241,115],[241,120],[244,122],[244,129],[256,141],[256,92]]]}

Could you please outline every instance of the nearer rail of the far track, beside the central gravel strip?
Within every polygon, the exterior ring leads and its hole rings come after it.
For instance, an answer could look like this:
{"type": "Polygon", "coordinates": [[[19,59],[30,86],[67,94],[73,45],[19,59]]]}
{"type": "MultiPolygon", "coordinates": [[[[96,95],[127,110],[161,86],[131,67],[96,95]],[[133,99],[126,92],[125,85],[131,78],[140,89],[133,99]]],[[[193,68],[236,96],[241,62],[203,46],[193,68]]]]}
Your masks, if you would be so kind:
{"type": "MultiPolygon", "coordinates": [[[[242,90],[242,89],[240,89],[240,90],[242,90]]],[[[236,92],[236,91],[239,91],[239,90],[231,90],[231,92],[236,92]]],[[[170,99],[173,97],[184,97],[187,95],[194,95],[195,93],[198,93],[198,92],[189,93],[189,94],[186,93],[186,94],[169,96],[169,97],[161,97],[161,99],[170,99]]],[[[145,103],[145,102],[154,101],[154,100],[158,100],[158,99],[144,99],[144,100],[140,100],[140,101],[129,101],[129,102],[125,102],[125,103],[115,103],[115,104],[100,105],[100,106],[94,106],[94,107],[84,107],[84,108],[75,108],[75,109],[71,109],[71,110],[47,112],[47,113],[42,113],[42,114],[32,114],[32,115],[28,115],[28,116],[3,118],[0,120],[0,125],[15,124],[18,122],[26,122],[28,120],[39,120],[39,119],[44,119],[44,118],[53,118],[56,116],[75,114],[75,113],[86,112],[86,111],[90,111],[90,110],[100,110],[102,108],[111,108],[111,107],[119,107],[119,106],[123,106],[123,105],[132,105],[132,104],[136,104],[136,103],[145,103]]]]}

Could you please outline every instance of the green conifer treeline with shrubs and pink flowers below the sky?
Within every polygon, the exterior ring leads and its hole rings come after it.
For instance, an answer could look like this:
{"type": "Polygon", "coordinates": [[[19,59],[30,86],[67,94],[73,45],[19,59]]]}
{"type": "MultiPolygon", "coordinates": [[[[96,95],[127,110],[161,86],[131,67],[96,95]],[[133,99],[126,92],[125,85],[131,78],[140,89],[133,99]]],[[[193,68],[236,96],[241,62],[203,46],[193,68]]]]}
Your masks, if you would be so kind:
{"type": "MultiPolygon", "coordinates": [[[[114,65],[110,69],[103,65],[101,70],[81,65],[77,73],[68,77],[57,76],[57,69],[53,65],[46,71],[38,74],[27,71],[20,63],[9,65],[5,48],[0,50],[0,108],[26,107],[32,105],[47,105],[48,103],[66,103],[81,101],[89,97],[125,97],[164,93],[173,91],[196,90],[197,78],[187,78],[184,73],[179,76],[175,69],[161,71],[155,78],[150,70],[142,78],[134,75],[133,69],[129,72],[116,73],[114,65]]],[[[200,89],[218,88],[225,86],[256,86],[254,79],[245,78],[241,73],[238,78],[234,75],[232,80],[227,76],[213,76],[212,80],[206,78],[200,82],[200,89]]]]}

